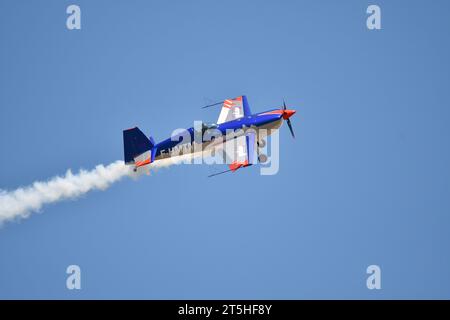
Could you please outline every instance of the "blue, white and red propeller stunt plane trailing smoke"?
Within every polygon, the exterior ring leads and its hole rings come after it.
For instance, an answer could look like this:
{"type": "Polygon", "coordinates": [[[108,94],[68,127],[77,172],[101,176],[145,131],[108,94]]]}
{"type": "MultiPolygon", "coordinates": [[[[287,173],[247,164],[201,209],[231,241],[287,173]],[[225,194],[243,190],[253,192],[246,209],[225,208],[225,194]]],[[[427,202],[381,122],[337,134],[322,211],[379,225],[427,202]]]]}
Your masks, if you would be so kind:
{"type": "MultiPolygon", "coordinates": [[[[248,167],[256,163],[254,159],[255,149],[263,148],[266,144],[264,136],[259,132],[268,132],[267,135],[278,130],[283,121],[286,121],[291,135],[295,138],[294,130],[290,117],[295,113],[295,110],[287,109],[283,101],[283,106],[280,109],[272,109],[260,113],[252,114],[250,106],[245,95],[232,99],[204,106],[209,108],[217,105],[222,105],[219,119],[217,123],[201,125],[201,149],[212,144],[220,146],[226,144],[228,141],[237,139],[237,148],[234,148],[234,153],[231,155],[233,161],[229,163],[229,170],[216,173],[235,172],[236,170],[248,167]],[[252,129],[252,130],[247,130],[252,129]],[[214,139],[214,135],[210,138],[205,138],[204,133],[207,130],[213,130],[222,135],[221,139],[214,139]],[[233,134],[230,134],[233,132],[233,134]]],[[[185,130],[185,135],[175,135],[160,143],[155,143],[152,137],[147,137],[138,127],[127,129],[123,131],[124,143],[124,158],[125,164],[134,166],[133,170],[145,167],[151,163],[162,159],[175,158],[180,155],[193,154],[195,150],[193,141],[195,141],[196,133],[199,128],[191,127],[185,130]],[[183,139],[187,134],[190,139],[183,139]],[[186,141],[187,140],[187,141],[186,141]]],[[[258,161],[264,163],[267,161],[267,156],[258,154],[258,161]]]]}

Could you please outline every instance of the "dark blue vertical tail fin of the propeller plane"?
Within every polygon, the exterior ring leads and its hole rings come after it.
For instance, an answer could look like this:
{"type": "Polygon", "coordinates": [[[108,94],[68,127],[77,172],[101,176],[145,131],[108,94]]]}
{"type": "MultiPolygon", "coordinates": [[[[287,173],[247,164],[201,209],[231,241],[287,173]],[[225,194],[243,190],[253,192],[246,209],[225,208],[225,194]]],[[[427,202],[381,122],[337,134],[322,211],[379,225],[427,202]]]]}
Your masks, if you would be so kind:
{"type": "Polygon", "coordinates": [[[125,164],[133,164],[134,158],[155,146],[152,137],[147,138],[138,127],[123,131],[123,154],[125,164]]]}

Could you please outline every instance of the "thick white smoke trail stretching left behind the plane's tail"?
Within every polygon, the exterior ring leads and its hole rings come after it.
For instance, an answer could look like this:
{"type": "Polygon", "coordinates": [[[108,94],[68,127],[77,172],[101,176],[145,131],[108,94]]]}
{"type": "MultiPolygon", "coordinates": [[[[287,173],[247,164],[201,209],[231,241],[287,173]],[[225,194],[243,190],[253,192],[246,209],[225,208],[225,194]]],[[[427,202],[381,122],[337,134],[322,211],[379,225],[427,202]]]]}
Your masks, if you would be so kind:
{"type": "Polygon", "coordinates": [[[91,171],[80,170],[77,174],[68,170],[62,177],[37,181],[14,191],[0,190],[0,225],[6,221],[27,218],[45,204],[73,199],[91,190],[105,190],[131,174],[129,166],[123,161],[116,161],[107,166],[98,165],[91,171]]]}

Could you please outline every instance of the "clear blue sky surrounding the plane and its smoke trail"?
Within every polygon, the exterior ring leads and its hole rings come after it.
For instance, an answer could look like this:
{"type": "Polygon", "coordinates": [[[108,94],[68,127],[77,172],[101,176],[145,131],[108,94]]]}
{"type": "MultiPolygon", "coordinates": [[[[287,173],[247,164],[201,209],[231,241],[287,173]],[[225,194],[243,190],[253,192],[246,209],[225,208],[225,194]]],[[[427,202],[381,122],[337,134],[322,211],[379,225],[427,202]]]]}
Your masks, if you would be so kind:
{"type": "Polygon", "coordinates": [[[450,298],[449,9],[2,0],[1,189],[122,159],[133,125],[215,121],[205,99],[298,112],[275,176],[172,167],[4,225],[0,298],[450,298]]]}

